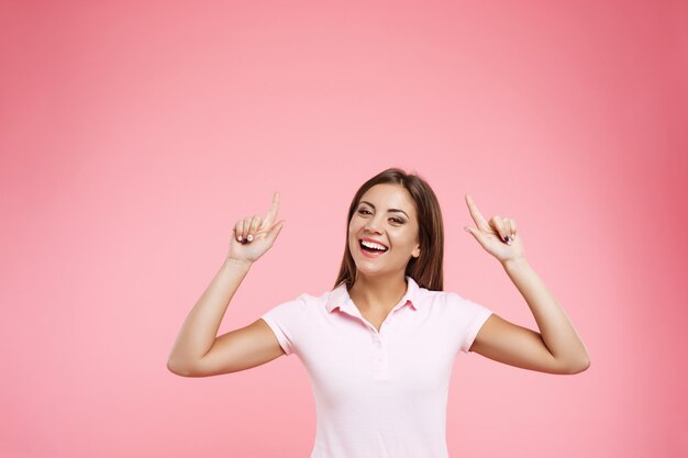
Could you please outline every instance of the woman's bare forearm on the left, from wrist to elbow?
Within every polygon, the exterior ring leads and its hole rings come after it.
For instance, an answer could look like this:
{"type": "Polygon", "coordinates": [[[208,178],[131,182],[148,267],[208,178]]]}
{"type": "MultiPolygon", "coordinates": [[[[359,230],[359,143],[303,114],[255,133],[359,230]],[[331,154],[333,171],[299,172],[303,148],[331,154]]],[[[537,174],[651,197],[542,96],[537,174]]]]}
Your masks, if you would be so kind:
{"type": "Polygon", "coordinates": [[[226,259],[181,325],[167,362],[184,367],[201,359],[212,347],[230,301],[251,268],[226,259]]]}

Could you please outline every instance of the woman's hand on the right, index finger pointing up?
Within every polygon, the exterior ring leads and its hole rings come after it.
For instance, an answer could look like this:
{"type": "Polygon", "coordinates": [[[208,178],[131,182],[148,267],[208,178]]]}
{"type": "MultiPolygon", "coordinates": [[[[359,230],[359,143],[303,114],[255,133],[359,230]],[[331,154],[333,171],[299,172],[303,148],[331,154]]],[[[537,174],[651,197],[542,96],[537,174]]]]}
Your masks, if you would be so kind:
{"type": "Polygon", "coordinates": [[[492,216],[485,221],[470,194],[466,194],[466,204],[477,227],[465,226],[482,248],[495,256],[501,264],[525,258],[521,237],[517,234],[515,221],[509,217],[492,216]]]}

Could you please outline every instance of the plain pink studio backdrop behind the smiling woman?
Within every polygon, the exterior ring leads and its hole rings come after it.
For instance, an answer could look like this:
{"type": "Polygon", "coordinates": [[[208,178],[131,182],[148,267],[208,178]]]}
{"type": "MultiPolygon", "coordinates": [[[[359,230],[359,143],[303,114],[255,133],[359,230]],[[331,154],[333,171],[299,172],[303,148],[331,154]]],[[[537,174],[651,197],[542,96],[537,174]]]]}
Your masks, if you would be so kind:
{"type": "Polygon", "coordinates": [[[201,379],[167,356],[236,220],[281,192],[221,333],[331,289],[391,166],[440,198],[446,290],[536,329],[469,192],[591,356],[458,357],[453,457],[688,454],[686,2],[5,1],[0,30],[0,457],[307,457],[296,356],[201,379]]]}

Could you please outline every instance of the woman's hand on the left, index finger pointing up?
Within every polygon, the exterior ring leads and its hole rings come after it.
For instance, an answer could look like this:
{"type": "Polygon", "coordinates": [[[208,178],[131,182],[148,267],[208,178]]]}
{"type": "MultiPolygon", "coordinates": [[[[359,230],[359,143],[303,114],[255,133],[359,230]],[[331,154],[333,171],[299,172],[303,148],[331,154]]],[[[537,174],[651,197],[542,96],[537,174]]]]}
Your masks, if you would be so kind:
{"type": "Polygon", "coordinates": [[[236,222],[232,231],[228,259],[252,264],[273,246],[286,222],[281,220],[275,223],[278,208],[279,192],[275,192],[265,219],[256,214],[236,222]]]}

